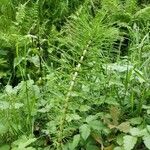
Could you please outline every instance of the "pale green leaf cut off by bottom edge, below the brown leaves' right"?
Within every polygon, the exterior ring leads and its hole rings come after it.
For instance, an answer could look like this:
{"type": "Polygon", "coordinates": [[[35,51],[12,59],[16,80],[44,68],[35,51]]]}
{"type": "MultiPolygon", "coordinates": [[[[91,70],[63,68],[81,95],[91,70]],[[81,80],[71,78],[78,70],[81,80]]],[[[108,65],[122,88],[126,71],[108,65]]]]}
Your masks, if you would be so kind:
{"type": "Polygon", "coordinates": [[[137,137],[126,135],[123,137],[123,146],[125,150],[132,150],[137,143],[137,137]]]}

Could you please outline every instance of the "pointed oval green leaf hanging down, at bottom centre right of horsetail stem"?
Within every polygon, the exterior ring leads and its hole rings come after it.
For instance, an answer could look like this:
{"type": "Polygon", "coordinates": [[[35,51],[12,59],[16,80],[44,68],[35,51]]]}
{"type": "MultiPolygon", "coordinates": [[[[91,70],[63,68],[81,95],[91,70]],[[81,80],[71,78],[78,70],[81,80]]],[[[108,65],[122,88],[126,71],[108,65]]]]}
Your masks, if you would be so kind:
{"type": "Polygon", "coordinates": [[[83,124],[80,128],[79,128],[79,131],[80,131],[80,134],[81,134],[81,137],[86,140],[90,133],[91,133],[91,130],[90,130],[90,127],[89,125],[87,124],[83,124]]]}

